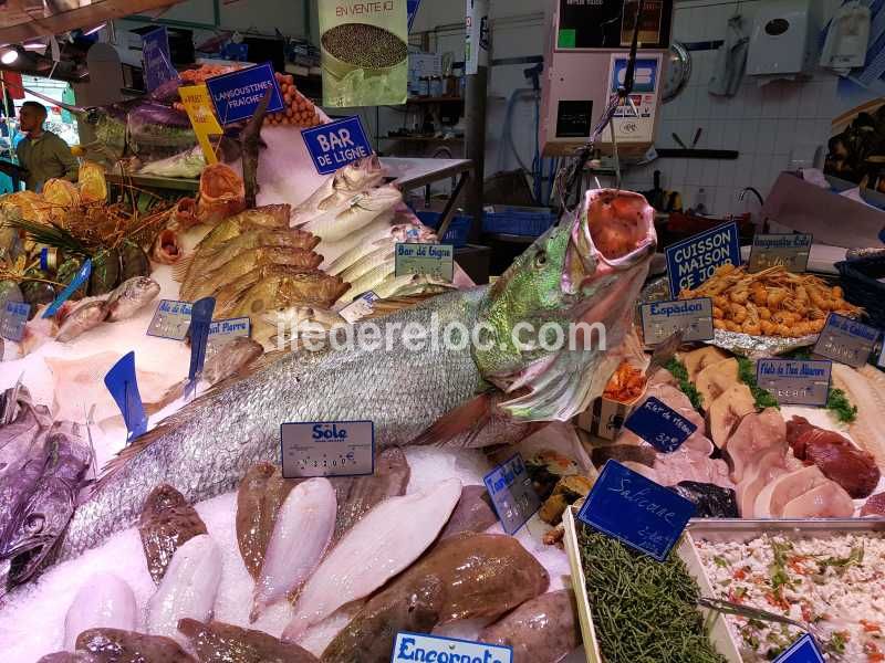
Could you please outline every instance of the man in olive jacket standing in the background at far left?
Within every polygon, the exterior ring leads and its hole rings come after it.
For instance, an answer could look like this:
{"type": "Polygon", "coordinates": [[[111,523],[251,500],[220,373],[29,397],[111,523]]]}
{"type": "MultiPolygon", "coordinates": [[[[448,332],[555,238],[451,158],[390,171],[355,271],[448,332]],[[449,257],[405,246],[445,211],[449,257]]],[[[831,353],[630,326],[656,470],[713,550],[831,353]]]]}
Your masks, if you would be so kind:
{"type": "Polygon", "coordinates": [[[19,128],[28,134],[15,147],[19,164],[28,171],[25,186],[41,191],[48,179],[77,179],[80,167],[71,148],[59,136],[43,129],[46,107],[37,102],[24,102],[19,112],[19,128]]]}

